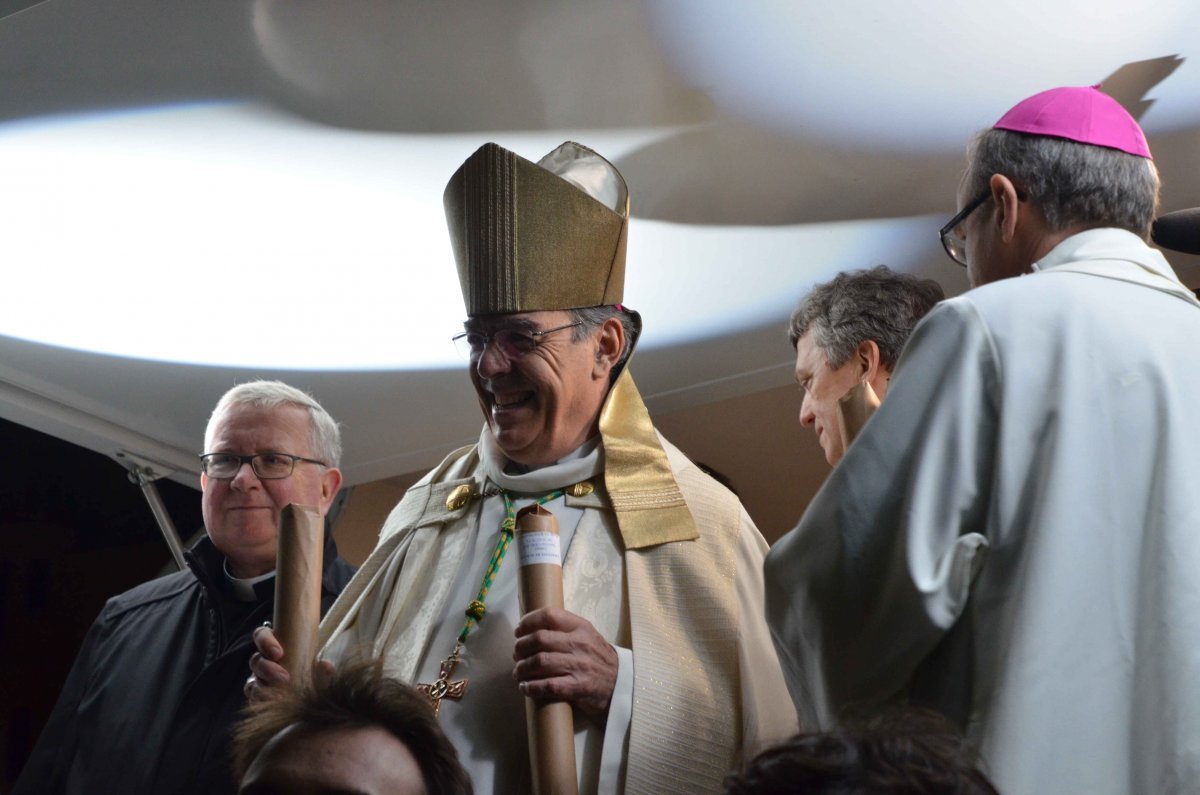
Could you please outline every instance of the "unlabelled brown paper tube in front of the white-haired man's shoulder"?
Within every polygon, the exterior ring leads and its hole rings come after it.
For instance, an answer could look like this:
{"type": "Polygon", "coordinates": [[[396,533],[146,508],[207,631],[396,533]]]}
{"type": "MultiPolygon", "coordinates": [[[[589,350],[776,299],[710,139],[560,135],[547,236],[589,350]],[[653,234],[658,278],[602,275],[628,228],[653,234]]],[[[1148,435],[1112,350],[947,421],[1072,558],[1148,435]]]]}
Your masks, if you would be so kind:
{"type": "Polygon", "coordinates": [[[320,623],[320,574],[325,521],[313,506],[287,506],[280,514],[275,562],[275,635],[283,667],[295,685],[312,676],[320,623]]]}

